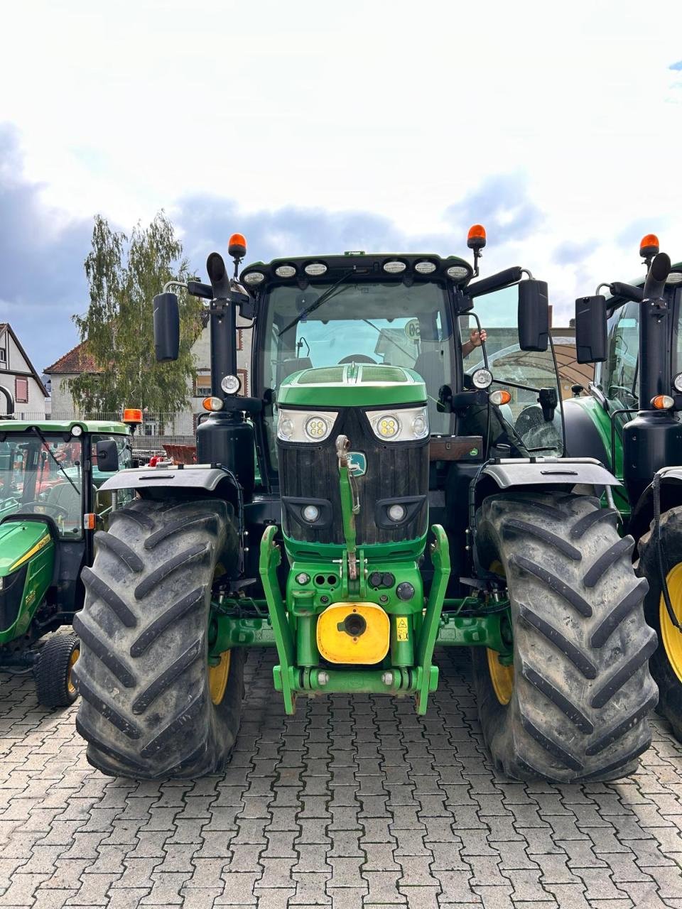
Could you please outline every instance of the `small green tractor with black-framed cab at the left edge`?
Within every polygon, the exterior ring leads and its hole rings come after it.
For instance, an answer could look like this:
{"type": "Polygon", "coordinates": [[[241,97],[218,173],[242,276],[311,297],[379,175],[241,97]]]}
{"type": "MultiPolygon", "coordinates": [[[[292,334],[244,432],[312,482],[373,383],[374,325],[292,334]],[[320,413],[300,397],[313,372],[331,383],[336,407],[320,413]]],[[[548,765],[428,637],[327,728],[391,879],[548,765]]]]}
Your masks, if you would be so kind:
{"type": "Polygon", "coordinates": [[[78,637],[50,633],[83,605],[80,574],[114,504],[98,487],[130,457],[123,423],[0,421],[0,671],[33,671],[45,707],[75,701],[78,637]]]}

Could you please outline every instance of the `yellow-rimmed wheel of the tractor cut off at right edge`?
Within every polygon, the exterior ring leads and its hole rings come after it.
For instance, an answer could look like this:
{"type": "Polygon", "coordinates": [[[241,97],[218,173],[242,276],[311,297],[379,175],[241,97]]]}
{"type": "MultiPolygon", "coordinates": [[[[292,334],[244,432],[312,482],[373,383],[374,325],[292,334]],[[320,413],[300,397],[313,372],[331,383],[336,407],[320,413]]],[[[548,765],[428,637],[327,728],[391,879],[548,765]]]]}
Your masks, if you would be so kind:
{"type": "MultiPolygon", "coordinates": [[[[682,508],[671,508],[661,515],[661,544],[668,593],[677,621],[682,624],[682,508]]],[[[637,548],[637,573],[649,583],[644,614],[658,635],[657,651],[649,661],[658,685],[658,712],[672,726],[677,741],[682,742],[682,632],[670,620],[661,594],[663,584],[653,529],[642,536],[637,548]]]]}

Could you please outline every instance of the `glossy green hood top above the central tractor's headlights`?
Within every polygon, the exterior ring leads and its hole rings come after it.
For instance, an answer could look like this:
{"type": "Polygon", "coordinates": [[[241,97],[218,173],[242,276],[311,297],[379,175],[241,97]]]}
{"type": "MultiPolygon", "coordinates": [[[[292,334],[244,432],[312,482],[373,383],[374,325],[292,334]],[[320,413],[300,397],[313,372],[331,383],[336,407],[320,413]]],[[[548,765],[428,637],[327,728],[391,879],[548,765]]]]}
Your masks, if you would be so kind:
{"type": "Polygon", "coordinates": [[[304,369],[286,377],[277,404],[302,407],[371,407],[426,404],[420,375],[403,366],[348,363],[304,369]]]}

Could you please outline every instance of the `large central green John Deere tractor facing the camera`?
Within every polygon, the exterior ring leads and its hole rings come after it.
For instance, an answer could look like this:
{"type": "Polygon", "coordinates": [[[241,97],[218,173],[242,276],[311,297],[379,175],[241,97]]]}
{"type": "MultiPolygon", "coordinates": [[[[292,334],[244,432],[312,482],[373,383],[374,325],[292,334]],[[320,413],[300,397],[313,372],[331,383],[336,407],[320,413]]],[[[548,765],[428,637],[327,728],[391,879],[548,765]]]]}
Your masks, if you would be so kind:
{"type": "MultiPolygon", "coordinates": [[[[125,470],[135,490],[82,574],[76,727],[105,774],[194,777],[229,759],[252,646],[298,697],[408,697],[426,712],[436,644],[473,659],[483,733],[517,779],[631,773],[657,703],[634,572],[596,490],[563,457],[547,284],[475,280],[455,256],[209,256],[212,394],[197,464],[125,470]],[[480,319],[488,341],[479,346],[480,319]],[[240,395],[236,313],[252,320],[240,395]]],[[[155,297],[155,354],[178,301],[155,297]]]]}

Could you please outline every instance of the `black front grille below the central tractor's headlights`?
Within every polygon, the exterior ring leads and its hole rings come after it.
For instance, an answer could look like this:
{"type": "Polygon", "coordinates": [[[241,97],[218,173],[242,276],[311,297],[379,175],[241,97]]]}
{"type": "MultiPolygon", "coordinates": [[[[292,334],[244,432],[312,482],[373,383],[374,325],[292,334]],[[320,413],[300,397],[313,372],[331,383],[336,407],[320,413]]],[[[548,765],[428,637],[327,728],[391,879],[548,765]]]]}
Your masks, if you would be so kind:
{"type": "Polygon", "coordinates": [[[360,512],[356,514],[357,544],[397,543],[424,534],[428,519],[428,438],[414,443],[381,442],[372,432],[364,412],[347,408],[339,412],[331,435],[322,445],[287,444],[278,440],[283,499],[293,497],[331,503],[331,520],[316,529],[298,524],[287,513],[287,508],[283,508],[286,535],[307,543],[345,542],[338,488],[337,435],[347,435],[350,450],[366,455],[366,474],[356,479],[360,495],[360,512]],[[377,526],[376,502],[416,495],[425,497],[424,504],[406,524],[377,526]]]}

